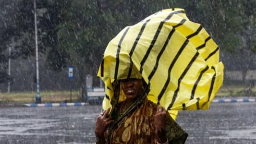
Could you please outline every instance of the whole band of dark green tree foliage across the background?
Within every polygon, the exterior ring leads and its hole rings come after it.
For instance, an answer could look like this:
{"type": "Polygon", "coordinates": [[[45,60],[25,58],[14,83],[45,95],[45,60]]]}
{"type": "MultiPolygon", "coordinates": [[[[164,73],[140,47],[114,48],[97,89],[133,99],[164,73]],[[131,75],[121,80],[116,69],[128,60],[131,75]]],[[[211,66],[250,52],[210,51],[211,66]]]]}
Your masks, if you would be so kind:
{"type": "MultiPolygon", "coordinates": [[[[0,0],[2,73],[12,39],[12,59],[35,55],[33,1],[0,0]]],[[[255,0],[37,0],[39,52],[48,55],[47,65],[54,71],[74,65],[82,81],[85,74],[97,72],[108,42],[125,26],[167,8],[185,9],[226,52],[256,51],[255,0]]]]}

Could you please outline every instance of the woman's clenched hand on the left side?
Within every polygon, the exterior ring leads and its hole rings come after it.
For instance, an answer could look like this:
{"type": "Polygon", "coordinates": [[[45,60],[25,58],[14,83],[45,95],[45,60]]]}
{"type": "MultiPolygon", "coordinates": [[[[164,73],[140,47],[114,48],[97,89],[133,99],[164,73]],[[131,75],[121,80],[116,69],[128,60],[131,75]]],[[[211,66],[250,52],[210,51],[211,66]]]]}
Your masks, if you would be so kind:
{"type": "Polygon", "coordinates": [[[104,132],[108,129],[110,124],[114,122],[108,117],[110,108],[104,110],[102,114],[98,116],[95,126],[95,135],[98,139],[104,139],[104,132]]]}

